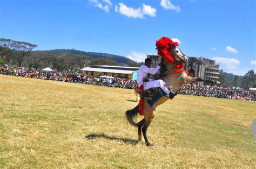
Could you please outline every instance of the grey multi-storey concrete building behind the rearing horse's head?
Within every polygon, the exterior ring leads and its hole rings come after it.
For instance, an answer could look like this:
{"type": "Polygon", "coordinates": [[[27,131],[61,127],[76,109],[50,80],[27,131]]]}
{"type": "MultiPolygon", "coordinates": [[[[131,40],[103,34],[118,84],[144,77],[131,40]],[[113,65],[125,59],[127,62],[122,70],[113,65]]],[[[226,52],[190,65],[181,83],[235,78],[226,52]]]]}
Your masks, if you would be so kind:
{"type": "MultiPolygon", "coordinates": [[[[157,54],[148,54],[147,58],[152,60],[151,68],[155,68],[161,61],[161,57],[157,54]]],[[[185,71],[194,72],[190,76],[199,78],[205,78],[208,80],[218,81],[219,79],[219,65],[214,60],[206,58],[188,57],[188,61],[185,64],[185,71]]],[[[197,82],[197,86],[210,85],[206,82],[197,82]]]]}

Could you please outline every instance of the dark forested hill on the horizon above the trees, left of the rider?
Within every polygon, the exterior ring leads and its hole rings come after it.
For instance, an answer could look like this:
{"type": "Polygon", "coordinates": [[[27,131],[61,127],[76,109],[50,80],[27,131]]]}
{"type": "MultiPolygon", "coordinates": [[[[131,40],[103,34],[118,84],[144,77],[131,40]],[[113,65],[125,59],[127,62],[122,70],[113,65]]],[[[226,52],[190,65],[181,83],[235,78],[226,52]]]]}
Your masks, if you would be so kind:
{"type": "Polygon", "coordinates": [[[109,54],[109,53],[84,52],[84,51],[78,51],[78,50],[75,50],[75,49],[71,49],[71,50],[48,50],[48,51],[35,51],[35,52],[55,54],[59,57],[71,57],[73,54],[83,54],[83,55],[87,55],[87,56],[92,57],[92,58],[111,59],[111,60],[117,61],[120,65],[124,65],[128,61],[131,61],[130,59],[119,56],[119,55],[114,55],[114,54],[109,54]]]}

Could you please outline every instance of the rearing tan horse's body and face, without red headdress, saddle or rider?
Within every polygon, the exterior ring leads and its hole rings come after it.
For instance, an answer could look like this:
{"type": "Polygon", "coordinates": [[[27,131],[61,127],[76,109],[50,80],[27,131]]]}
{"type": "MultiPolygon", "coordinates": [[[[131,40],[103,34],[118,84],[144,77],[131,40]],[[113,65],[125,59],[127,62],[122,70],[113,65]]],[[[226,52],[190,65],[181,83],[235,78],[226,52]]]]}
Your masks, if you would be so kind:
{"type": "MultiPolygon", "coordinates": [[[[170,53],[174,60],[174,62],[168,62],[165,59],[161,59],[161,66],[160,66],[160,79],[163,80],[167,85],[170,86],[171,92],[177,95],[178,90],[185,84],[185,83],[194,83],[194,82],[201,82],[206,81],[211,83],[211,85],[217,85],[218,81],[207,80],[204,78],[198,77],[191,77],[188,76],[183,71],[178,71],[177,65],[183,64],[187,62],[187,58],[185,54],[175,45],[169,44],[170,53]],[[178,73],[173,73],[178,72],[178,73]]],[[[156,108],[158,105],[165,103],[170,99],[169,96],[161,97],[156,103],[150,106],[149,103],[143,103],[143,116],[144,118],[139,122],[134,122],[134,118],[138,116],[139,112],[139,104],[131,110],[127,110],[125,112],[127,121],[138,128],[138,142],[142,142],[142,134],[145,139],[146,146],[152,146],[153,144],[150,143],[149,139],[147,139],[147,129],[149,128],[150,124],[153,121],[153,118],[156,116],[156,108]]]]}

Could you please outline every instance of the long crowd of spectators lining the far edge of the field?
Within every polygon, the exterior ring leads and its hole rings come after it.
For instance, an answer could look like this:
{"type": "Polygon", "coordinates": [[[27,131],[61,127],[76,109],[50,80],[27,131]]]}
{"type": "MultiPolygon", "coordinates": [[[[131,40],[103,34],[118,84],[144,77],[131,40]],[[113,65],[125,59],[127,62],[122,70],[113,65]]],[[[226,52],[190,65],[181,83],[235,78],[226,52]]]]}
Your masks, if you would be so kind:
{"type": "MultiPolygon", "coordinates": [[[[84,75],[79,73],[60,73],[55,71],[39,71],[37,69],[26,69],[23,67],[1,67],[0,74],[127,89],[133,89],[137,85],[136,81],[126,78],[112,78],[109,76],[84,75]]],[[[179,90],[179,94],[256,101],[255,90],[236,90],[218,86],[198,87],[196,85],[186,84],[179,90]]]]}

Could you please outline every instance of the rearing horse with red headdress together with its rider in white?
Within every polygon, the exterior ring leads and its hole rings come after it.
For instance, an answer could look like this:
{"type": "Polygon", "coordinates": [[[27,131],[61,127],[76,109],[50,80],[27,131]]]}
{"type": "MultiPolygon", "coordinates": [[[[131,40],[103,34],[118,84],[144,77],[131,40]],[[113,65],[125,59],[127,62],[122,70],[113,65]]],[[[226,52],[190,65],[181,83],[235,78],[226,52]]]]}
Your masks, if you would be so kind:
{"type": "Polygon", "coordinates": [[[136,107],[125,112],[127,121],[131,125],[138,127],[139,141],[142,140],[143,134],[147,146],[152,146],[147,139],[147,129],[156,116],[156,108],[158,105],[173,98],[185,83],[199,81],[206,81],[212,85],[219,83],[218,81],[188,76],[183,68],[187,58],[183,52],[179,50],[178,45],[178,43],[173,42],[167,37],[162,37],[157,40],[156,46],[158,55],[162,58],[161,64],[154,69],[150,69],[151,61],[145,60],[145,65],[140,67],[138,75],[138,85],[141,89],[144,88],[142,97],[136,107]],[[148,74],[155,74],[159,69],[159,80],[143,82],[148,74]],[[138,112],[140,115],[143,115],[144,118],[139,122],[134,122],[133,118],[138,116],[138,112]]]}

